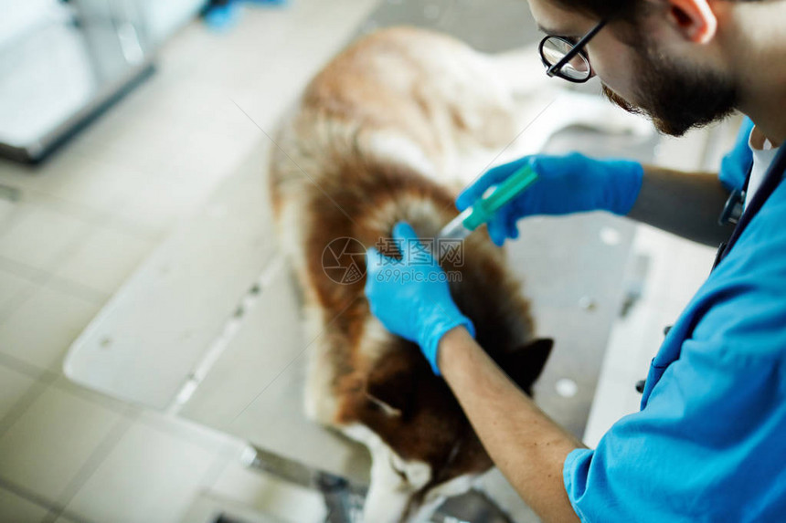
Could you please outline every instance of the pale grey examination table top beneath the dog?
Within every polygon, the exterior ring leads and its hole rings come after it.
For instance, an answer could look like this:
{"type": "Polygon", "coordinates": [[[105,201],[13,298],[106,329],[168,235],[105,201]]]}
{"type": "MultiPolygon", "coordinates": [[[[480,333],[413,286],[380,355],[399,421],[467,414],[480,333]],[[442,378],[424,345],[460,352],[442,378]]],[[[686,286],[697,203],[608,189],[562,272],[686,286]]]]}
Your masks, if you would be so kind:
{"type": "MultiPolygon", "coordinates": [[[[510,23],[516,16],[531,24],[526,4],[498,3],[494,16],[505,38],[483,31],[494,26],[491,15],[478,22],[470,4],[458,0],[385,3],[362,28],[409,20],[470,35],[473,45],[486,50],[532,43],[532,29],[515,33],[521,26],[510,23]],[[481,34],[494,41],[484,45],[476,36],[481,34]]],[[[488,2],[483,10],[495,12],[488,2]]],[[[256,123],[270,131],[274,122],[256,123]]],[[[649,160],[655,140],[567,129],[546,150],[649,160]]],[[[73,344],[66,373],[114,397],[242,438],[258,449],[250,459],[255,465],[320,487],[333,508],[331,520],[348,521],[352,511],[342,507],[348,493],[366,484],[369,458],[361,445],[303,415],[305,362],[314,340],[303,337],[292,277],[276,252],[264,177],[270,147],[260,134],[259,150],[129,278],[73,344]]],[[[556,339],[536,384],[536,401],[580,437],[621,309],[621,274],[634,229],[606,214],[533,218],[520,228],[507,254],[532,301],[538,334],[556,339]]],[[[510,500],[506,509],[515,521],[536,521],[498,472],[485,481],[495,498],[510,500]]],[[[451,502],[435,520],[450,520],[449,514],[453,521],[503,520],[466,510],[451,502]]]]}

